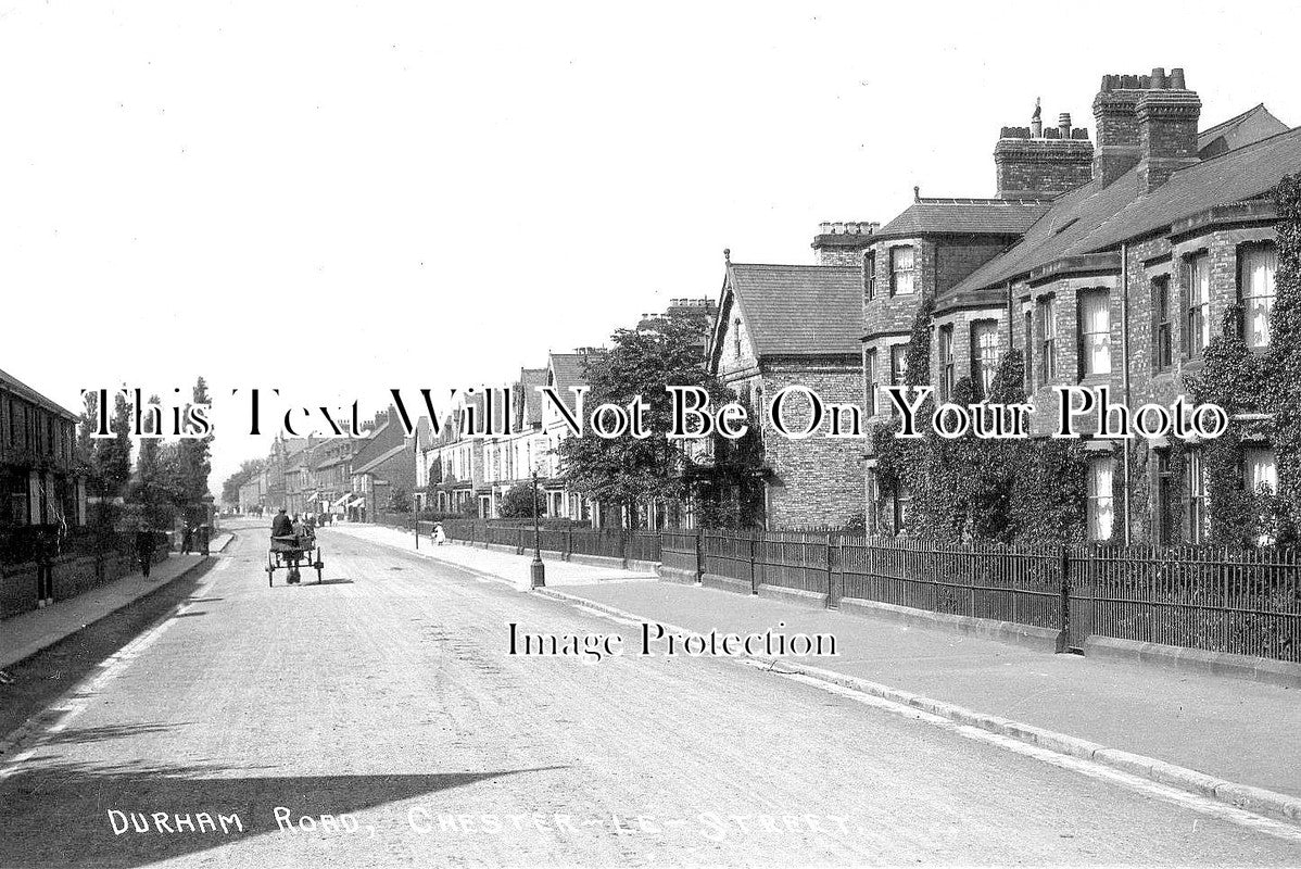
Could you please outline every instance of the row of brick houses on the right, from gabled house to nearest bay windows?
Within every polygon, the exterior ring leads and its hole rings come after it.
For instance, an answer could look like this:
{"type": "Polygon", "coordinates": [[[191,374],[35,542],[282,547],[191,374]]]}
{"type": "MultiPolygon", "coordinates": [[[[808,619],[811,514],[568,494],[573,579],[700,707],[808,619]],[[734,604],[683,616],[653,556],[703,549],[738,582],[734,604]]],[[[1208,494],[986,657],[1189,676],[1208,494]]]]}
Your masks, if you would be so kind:
{"type": "MultiPolygon", "coordinates": [[[[1172,402],[1231,306],[1242,306],[1248,345],[1267,347],[1272,191],[1301,170],[1301,129],[1265,105],[1203,125],[1181,69],[1103,75],[1093,121],[1093,138],[1069,114],[1045,126],[1036,105],[1029,126],[1004,126],[994,143],[994,196],[915,191],[883,225],[824,224],[816,265],[729,261],[712,369],[742,394],[790,381],[852,393],[869,425],[885,423],[885,386],[904,384],[917,311],[932,301],[924,381],[942,399],[968,376],[987,390],[1015,347],[1037,407],[1033,433],[1046,436],[1056,386],[1107,386],[1131,407],[1172,402]]],[[[765,524],[899,531],[909,493],[882,490],[868,444],[765,432],[768,468],[753,494],[765,524]]],[[[1140,440],[1128,463],[1114,441],[1088,446],[1093,537],[1203,539],[1197,445],[1177,463],[1160,440],[1140,440]],[[1137,488],[1146,496],[1125,497],[1137,488]]],[[[1246,489],[1276,489],[1267,440],[1244,444],[1241,475],[1246,489]]]]}

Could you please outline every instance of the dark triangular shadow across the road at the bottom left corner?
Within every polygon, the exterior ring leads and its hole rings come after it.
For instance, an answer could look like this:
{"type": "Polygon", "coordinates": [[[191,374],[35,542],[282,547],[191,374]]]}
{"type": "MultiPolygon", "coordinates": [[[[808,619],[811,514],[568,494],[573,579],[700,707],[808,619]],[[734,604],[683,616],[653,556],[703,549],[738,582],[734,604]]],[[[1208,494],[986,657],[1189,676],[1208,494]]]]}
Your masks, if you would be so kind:
{"type": "MultiPolygon", "coordinates": [[[[250,775],[252,770],[211,765],[34,768],[0,781],[0,804],[5,807],[0,817],[0,865],[143,866],[267,834],[302,836],[306,842],[330,834],[281,830],[277,807],[289,809],[294,820],[321,814],[337,818],[476,782],[554,769],[563,768],[289,777],[250,775]],[[167,813],[167,829],[160,829],[155,813],[167,813]],[[199,813],[207,813],[215,829],[203,825],[199,830],[199,813]],[[176,816],[189,816],[195,829],[186,829],[176,816]],[[222,816],[225,831],[219,822],[222,816]]],[[[440,803],[429,810],[432,817],[454,809],[440,803]]],[[[393,838],[410,833],[402,812],[385,823],[376,830],[372,847],[377,853],[384,853],[393,838]]],[[[364,829],[334,835],[341,843],[350,836],[363,846],[368,839],[364,829]]]]}

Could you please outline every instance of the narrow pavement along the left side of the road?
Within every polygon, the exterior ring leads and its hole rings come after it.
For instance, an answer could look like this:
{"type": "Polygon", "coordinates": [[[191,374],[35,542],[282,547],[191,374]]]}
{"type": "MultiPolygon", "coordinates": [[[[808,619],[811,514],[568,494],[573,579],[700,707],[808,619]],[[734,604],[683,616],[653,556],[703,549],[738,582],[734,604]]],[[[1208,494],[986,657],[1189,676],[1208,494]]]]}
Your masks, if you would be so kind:
{"type": "MultiPolygon", "coordinates": [[[[221,552],[232,537],[229,533],[217,535],[208,545],[208,552],[221,552]]],[[[170,553],[165,561],[154,565],[148,579],[135,571],[51,606],[0,621],[0,670],[55,645],[146,595],[152,595],[202,562],[203,555],[170,553]]]]}

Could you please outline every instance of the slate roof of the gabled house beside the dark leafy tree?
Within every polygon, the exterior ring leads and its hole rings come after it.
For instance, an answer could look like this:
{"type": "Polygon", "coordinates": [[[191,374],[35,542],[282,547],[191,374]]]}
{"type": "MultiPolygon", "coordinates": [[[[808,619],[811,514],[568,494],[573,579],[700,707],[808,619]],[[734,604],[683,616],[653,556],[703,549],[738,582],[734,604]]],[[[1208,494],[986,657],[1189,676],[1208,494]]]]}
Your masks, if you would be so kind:
{"type": "Polygon", "coordinates": [[[861,353],[863,274],[856,265],[732,263],[727,280],[757,355],[861,353]]]}

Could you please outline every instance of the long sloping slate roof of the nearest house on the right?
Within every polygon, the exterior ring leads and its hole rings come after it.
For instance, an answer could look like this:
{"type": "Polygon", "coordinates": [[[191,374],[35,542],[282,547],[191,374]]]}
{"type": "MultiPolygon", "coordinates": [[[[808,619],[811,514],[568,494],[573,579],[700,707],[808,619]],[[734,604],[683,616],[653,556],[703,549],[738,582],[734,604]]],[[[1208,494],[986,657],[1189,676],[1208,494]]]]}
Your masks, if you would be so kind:
{"type": "Polygon", "coordinates": [[[1180,169],[1145,196],[1137,195],[1137,167],[1107,186],[1090,181],[1053,200],[1019,243],[951,293],[990,287],[1064,256],[1114,248],[1215,206],[1254,199],[1293,172],[1301,172],[1301,127],[1180,169]]]}

